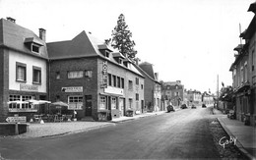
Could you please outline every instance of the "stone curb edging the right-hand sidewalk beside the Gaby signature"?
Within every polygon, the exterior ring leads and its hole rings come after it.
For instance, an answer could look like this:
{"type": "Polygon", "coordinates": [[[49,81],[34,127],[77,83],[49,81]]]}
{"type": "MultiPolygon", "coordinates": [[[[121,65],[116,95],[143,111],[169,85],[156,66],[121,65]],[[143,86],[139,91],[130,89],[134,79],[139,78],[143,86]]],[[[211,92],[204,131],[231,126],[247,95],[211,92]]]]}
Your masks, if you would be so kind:
{"type": "MultiPolygon", "coordinates": [[[[235,137],[224,125],[224,122],[220,119],[217,118],[219,123],[221,124],[221,126],[224,129],[224,132],[227,133],[229,136],[235,137]]],[[[256,158],[253,157],[247,150],[244,149],[244,147],[242,146],[242,144],[240,143],[240,141],[237,139],[236,140],[236,147],[242,152],[243,155],[245,155],[247,158],[251,159],[251,160],[255,160],[256,158]]]]}

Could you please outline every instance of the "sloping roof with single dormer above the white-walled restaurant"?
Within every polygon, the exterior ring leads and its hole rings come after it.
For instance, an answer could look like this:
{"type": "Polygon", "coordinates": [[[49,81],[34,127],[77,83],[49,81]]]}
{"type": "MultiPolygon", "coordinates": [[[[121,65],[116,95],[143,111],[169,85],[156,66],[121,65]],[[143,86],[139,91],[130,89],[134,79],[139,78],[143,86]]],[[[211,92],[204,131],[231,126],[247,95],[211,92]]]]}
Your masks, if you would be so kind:
{"type": "Polygon", "coordinates": [[[0,45],[35,57],[48,58],[45,41],[41,40],[32,30],[5,19],[0,20],[0,45]],[[26,45],[28,42],[40,45],[41,52],[33,53],[26,45]]]}

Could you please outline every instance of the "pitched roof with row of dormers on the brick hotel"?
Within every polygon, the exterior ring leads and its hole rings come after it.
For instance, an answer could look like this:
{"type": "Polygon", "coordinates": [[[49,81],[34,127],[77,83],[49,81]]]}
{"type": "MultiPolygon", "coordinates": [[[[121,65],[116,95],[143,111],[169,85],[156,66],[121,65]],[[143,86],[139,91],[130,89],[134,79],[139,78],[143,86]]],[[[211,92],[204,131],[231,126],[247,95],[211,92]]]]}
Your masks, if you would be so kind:
{"type": "MultiPolygon", "coordinates": [[[[85,30],[79,33],[72,40],[47,43],[47,48],[50,60],[97,56],[144,78],[144,76],[133,65],[131,65],[131,68],[128,69],[118,64],[114,60],[112,54],[109,56],[109,58],[105,58],[100,53],[100,50],[106,49],[108,51],[112,51],[114,49],[106,45],[104,41],[97,39],[91,33],[87,33],[85,30]]],[[[114,52],[114,56],[115,55],[116,53],[114,52]]]]}

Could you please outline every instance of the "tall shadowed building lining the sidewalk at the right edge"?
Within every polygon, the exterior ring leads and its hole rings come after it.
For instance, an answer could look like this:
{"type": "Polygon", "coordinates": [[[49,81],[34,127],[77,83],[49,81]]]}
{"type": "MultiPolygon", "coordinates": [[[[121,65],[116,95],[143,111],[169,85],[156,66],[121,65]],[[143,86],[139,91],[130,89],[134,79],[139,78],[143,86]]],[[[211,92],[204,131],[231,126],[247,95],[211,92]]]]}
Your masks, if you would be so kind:
{"type": "MultiPolygon", "coordinates": [[[[250,5],[248,11],[256,13],[256,3],[250,5]]],[[[249,27],[240,34],[245,39],[245,44],[234,48],[238,54],[230,67],[232,72],[233,98],[236,119],[250,122],[255,125],[256,120],[256,17],[254,15],[249,27]]]]}

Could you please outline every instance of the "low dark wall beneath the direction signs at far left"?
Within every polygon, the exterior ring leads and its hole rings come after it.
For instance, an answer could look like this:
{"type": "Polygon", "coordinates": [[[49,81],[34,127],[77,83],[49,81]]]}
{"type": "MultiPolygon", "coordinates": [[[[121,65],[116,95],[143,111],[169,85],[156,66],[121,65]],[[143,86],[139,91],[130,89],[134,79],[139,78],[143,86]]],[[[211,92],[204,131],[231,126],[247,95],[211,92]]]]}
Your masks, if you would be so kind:
{"type": "Polygon", "coordinates": [[[15,135],[20,133],[27,133],[29,131],[30,124],[10,124],[0,123],[0,135],[15,135]],[[16,131],[16,125],[18,125],[18,131],[16,131]]]}

